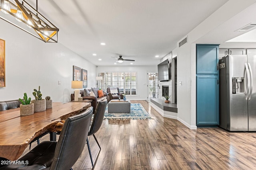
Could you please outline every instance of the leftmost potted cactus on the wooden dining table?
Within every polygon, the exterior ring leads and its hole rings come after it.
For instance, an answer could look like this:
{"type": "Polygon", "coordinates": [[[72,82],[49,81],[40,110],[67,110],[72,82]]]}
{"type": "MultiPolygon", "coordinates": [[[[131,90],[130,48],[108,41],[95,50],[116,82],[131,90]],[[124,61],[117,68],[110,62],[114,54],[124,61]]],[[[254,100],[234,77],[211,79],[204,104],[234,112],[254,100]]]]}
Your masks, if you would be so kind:
{"type": "Polygon", "coordinates": [[[27,94],[24,93],[23,100],[19,98],[20,102],[20,115],[26,116],[26,115],[32,115],[34,114],[34,104],[30,103],[31,98],[28,98],[27,94]]]}

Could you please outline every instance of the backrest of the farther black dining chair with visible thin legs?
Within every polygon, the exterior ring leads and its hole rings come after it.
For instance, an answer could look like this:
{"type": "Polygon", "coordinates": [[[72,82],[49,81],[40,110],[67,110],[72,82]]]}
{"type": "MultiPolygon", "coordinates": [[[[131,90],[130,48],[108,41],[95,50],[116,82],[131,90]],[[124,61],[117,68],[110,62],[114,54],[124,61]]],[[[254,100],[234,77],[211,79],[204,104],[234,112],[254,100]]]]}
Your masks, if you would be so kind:
{"type": "Polygon", "coordinates": [[[100,129],[100,126],[104,118],[104,113],[106,110],[107,103],[108,102],[106,99],[101,102],[98,102],[96,109],[94,111],[94,117],[93,117],[92,125],[90,127],[88,136],[93,135],[100,129]]]}

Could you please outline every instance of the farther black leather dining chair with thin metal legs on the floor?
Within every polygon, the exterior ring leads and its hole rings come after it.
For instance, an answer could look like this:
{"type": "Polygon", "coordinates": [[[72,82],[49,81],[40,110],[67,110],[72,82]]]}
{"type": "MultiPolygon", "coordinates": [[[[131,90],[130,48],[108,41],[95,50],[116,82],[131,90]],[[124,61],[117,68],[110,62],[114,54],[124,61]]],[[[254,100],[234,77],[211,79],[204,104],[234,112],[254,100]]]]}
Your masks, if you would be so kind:
{"type": "MultiPolygon", "coordinates": [[[[94,137],[94,139],[95,139],[95,141],[96,141],[96,143],[98,144],[99,147],[100,147],[100,144],[98,143],[94,134],[100,129],[100,126],[101,126],[103,118],[104,118],[104,113],[105,113],[105,110],[106,110],[107,103],[108,103],[107,100],[103,100],[101,102],[98,102],[98,104],[96,106],[96,109],[94,111],[94,117],[93,117],[93,120],[92,120],[92,125],[91,125],[90,131],[88,133],[88,136],[93,135],[93,137],[94,137]]],[[[92,162],[92,167],[94,167],[88,137],[87,137],[86,141],[87,141],[87,146],[88,146],[88,150],[89,150],[89,154],[90,154],[90,158],[91,158],[91,162],[92,162]]],[[[100,148],[100,150],[101,150],[101,148],[100,148]]]]}

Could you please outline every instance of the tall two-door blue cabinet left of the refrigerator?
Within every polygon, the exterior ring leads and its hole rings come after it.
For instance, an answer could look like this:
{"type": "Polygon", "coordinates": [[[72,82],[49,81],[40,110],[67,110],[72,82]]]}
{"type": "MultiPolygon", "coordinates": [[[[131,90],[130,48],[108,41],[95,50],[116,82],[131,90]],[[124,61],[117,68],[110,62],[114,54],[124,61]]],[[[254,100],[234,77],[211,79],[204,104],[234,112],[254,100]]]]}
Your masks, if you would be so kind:
{"type": "Polygon", "coordinates": [[[219,125],[219,46],[196,45],[196,125],[219,125]]]}

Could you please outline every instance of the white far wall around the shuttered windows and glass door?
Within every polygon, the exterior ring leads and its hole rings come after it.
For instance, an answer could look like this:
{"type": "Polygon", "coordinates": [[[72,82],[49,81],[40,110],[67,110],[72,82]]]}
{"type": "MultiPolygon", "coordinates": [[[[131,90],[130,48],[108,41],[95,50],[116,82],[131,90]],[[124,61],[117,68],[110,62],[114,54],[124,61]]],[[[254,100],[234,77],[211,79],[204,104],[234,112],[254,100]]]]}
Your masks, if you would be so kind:
{"type": "Polygon", "coordinates": [[[127,97],[128,99],[133,100],[146,100],[147,98],[147,71],[157,71],[157,64],[154,66],[98,66],[96,68],[97,74],[99,72],[107,71],[136,71],[138,84],[137,84],[137,96],[136,97],[127,97]]]}

